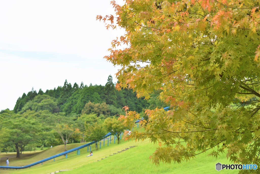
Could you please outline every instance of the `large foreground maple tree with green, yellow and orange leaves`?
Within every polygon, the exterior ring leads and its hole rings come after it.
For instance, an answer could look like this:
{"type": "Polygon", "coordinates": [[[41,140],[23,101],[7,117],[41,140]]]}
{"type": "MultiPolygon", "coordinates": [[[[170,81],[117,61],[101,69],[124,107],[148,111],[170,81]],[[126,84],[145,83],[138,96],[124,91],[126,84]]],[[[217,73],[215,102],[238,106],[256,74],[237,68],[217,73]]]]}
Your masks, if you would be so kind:
{"type": "MultiPolygon", "coordinates": [[[[125,29],[105,58],[121,66],[116,88],[152,93],[170,106],[145,111],[144,132],[160,161],[180,163],[207,150],[259,164],[259,0],[112,1],[116,15],[96,17],[125,29]],[[125,48],[124,48],[125,47],[125,48]]],[[[139,114],[121,116],[128,126],[139,114]]]]}

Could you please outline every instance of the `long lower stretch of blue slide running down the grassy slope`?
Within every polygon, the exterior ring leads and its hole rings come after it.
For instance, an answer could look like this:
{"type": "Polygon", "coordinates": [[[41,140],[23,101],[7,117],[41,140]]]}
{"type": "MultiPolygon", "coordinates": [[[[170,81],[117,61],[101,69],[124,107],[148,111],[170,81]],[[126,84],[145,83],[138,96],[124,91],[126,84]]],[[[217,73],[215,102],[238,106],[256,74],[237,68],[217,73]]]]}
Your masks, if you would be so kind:
{"type": "MultiPolygon", "coordinates": [[[[109,133],[107,133],[107,134],[104,136],[104,138],[106,138],[106,137],[108,137],[108,136],[110,136],[110,135],[111,135],[111,133],[109,132],[109,133]]],[[[37,162],[35,162],[35,163],[29,164],[29,165],[26,165],[26,166],[0,166],[0,169],[25,169],[25,168],[28,168],[28,167],[31,167],[31,166],[34,166],[34,165],[37,165],[37,164],[41,164],[41,163],[43,163],[43,162],[45,162],[45,161],[48,161],[48,160],[57,158],[57,157],[59,157],[59,156],[66,155],[67,153],[74,152],[74,151],[76,151],[76,150],[79,150],[79,149],[81,149],[81,148],[87,147],[87,146],[92,145],[92,144],[94,144],[94,143],[95,143],[95,141],[89,142],[89,143],[84,144],[84,145],[82,145],[82,146],[79,146],[79,147],[70,149],[70,150],[68,150],[68,151],[66,151],[66,152],[59,153],[59,154],[57,154],[57,155],[51,156],[51,157],[49,157],[49,158],[45,158],[45,159],[43,159],[43,160],[37,161],[37,162]]]]}

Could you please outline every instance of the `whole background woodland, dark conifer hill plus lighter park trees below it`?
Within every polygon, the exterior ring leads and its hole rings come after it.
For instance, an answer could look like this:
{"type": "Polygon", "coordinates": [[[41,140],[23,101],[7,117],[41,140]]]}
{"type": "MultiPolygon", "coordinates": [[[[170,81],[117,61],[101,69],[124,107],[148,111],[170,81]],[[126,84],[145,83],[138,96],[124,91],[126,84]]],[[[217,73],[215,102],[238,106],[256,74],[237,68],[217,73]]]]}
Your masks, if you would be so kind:
{"type": "MultiPolygon", "coordinates": [[[[162,106],[158,94],[147,102],[137,99],[133,90],[117,91],[108,77],[105,86],[83,83],[38,92],[32,90],[18,98],[14,110],[0,111],[0,152],[16,152],[67,143],[99,141],[107,132],[120,143],[120,134],[127,129],[114,115],[123,115],[128,105],[146,117],[143,109],[162,106]]],[[[147,119],[147,118],[146,118],[147,119]]],[[[96,146],[97,148],[97,146],[96,146]]]]}

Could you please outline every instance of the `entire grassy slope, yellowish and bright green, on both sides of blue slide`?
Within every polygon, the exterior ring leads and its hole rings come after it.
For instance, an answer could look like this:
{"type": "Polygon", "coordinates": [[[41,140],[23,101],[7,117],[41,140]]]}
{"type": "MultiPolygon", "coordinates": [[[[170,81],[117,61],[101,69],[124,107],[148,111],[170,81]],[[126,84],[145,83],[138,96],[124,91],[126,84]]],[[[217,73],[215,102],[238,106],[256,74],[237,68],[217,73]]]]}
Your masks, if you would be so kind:
{"type": "MultiPolygon", "coordinates": [[[[76,155],[76,152],[73,152],[68,155],[66,159],[64,156],[48,162],[45,162],[44,165],[37,165],[31,167],[30,169],[22,170],[1,170],[1,173],[51,173],[58,170],[64,169],[73,169],[71,171],[62,172],[63,174],[77,174],[77,173],[238,173],[238,171],[216,171],[215,164],[220,162],[222,164],[229,164],[230,162],[225,158],[225,154],[222,154],[218,159],[207,156],[207,154],[200,154],[196,159],[191,161],[183,161],[181,164],[160,164],[155,166],[150,160],[149,156],[154,152],[156,146],[151,145],[147,140],[144,142],[135,141],[122,141],[120,145],[105,143],[103,147],[103,142],[101,149],[99,151],[94,150],[92,146],[92,151],[94,153],[91,157],[86,157],[88,152],[86,148],[82,149],[80,155],[76,155]],[[117,153],[122,149],[125,149],[129,146],[136,146],[130,148],[121,153],[109,156],[110,154],[117,153]],[[108,158],[105,158],[105,157],[108,158]],[[101,160],[101,158],[105,158],[101,160]],[[97,161],[100,160],[100,161],[97,161]]],[[[72,144],[70,146],[79,146],[81,144],[72,144]]],[[[56,150],[60,149],[62,151],[63,146],[53,147],[52,149],[43,151],[41,153],[33,155],[31,158],[25,159],[20,164],[28,164],[30,161],[35,162],[43,158],[49,157],[51,155],[57,154],[56,150]],[[55,149],[57,148],[57,149],[55,149]],[[56,153],[55,153],[56,152],[56,153]],[[39,159],[40,158],[40,159],[39,159]],[[37,159],[37,160],[36,160],[37,159]]],[[[14,164],[15,161],[10,161],[10,165],[14,164]]],[[[18,164],[18,161],[17,161],[18,164]]],[[[30,164],[30,163],[29,163],[30,164]]],[[[12,165],[12,166],[16,166],[12,165]]],[[[19,166],[19,165],[18,165],[19,166]]]]}

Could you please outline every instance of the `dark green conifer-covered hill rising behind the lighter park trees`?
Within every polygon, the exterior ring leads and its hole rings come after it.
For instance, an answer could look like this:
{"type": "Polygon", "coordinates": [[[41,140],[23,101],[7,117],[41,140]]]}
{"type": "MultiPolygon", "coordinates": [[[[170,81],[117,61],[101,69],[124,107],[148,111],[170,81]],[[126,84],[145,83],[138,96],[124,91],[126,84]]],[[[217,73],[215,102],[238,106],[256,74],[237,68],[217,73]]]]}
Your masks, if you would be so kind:
{"type": "Polygon", "coordinates": [[[105,86],[92,84],[87,86],[83,82],[80,86],[77,83],[72,86],[65,80],[64,86],[58,86],[46,92],[40,89],[37,93],[32,89],[27,95],[23,93],[22,97],[18,98],[14,112],[21,114],[26,110],[49,110],[52,113],[81,114],[86,104],[92,108],[102,107],[101,104],[103,104],[103,107],[109,107],[111,114],[116,113],[125,105],[138,112],[148,106],[147,101],[143,98],[137,99],[135,92],[131,89],[117,91],[110,75],[105,86]]]}

